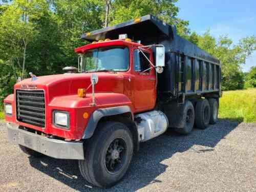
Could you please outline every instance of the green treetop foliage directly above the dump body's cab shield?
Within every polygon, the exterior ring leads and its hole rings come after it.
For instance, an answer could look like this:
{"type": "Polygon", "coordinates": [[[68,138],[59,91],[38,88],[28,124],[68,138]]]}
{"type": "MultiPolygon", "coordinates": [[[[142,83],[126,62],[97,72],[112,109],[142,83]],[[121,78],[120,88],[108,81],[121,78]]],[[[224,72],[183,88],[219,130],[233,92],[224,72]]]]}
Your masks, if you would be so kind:
{"type": "MultiPolygon", "coordinates": [[[[178,0],[115,0],[105,1],[106,12],[101,16],[110,25],[116,25],[130,19],[147,14],[153,14],[168,24],[175,24],[180,35],[189,34],[188,21],[177,17],[179,8],[175,5],[178,0]],[[110,6],[109,13],[108,6],[110,6]],[[109,17],[106,19],[106,17],[109,17]]],[[[108,24],[105,26],[108,26],[108,24]]]]}

